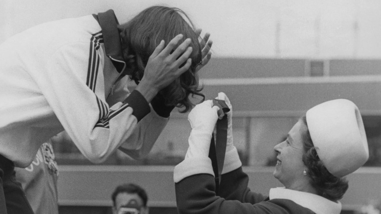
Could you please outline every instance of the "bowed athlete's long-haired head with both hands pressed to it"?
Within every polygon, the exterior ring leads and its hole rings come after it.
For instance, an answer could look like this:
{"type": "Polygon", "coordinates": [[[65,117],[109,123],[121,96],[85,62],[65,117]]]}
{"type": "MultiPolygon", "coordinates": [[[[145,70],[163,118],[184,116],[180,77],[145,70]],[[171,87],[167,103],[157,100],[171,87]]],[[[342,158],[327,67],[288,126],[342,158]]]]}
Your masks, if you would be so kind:
{"type": "Polygon", "coordinates": [[[196,30],[184,11],[152,6],[118,29],[126,73],[148,103],[160,93],[166,106],[184,107],[184,113],[193,107],[189,95],[205,98],[197,72],[211,59],[212,41],[209,33],[200,37],[201,29],[196,30]]]}

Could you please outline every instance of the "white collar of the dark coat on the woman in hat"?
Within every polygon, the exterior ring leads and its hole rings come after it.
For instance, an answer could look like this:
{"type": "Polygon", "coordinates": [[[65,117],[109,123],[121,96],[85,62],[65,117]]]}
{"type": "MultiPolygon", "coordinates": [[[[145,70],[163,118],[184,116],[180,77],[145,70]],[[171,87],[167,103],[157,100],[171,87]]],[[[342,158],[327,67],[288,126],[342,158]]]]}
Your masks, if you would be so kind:
{"type": "Polygon", "coordinates": [[[271,199],[288,199],[294,201],[296,204],[312,210],[316,214],[340,214],[341,203],[330,201],[317,194],[305,193],[286,188],[272,188],[270,189],[271,199]]]}

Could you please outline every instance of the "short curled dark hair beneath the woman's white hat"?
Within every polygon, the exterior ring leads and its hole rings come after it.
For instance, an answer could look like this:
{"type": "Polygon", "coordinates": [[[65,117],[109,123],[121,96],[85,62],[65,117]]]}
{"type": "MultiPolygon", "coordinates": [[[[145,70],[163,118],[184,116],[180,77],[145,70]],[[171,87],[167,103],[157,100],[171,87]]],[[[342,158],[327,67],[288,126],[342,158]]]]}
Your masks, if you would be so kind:
{"type": "Polygon", "coordinates": [[[337,201],[348,190],[348,181],[343,177],[339,178],[332,175],[324,167],[312,142],[306,116],[303,116],[301,120],[307,128],[302,133],[303,149],[305,152],[302,159],[308,169],[307,174],[310,177],[310,184],[317,190],[318,195],[331,201],[337,201]]]}

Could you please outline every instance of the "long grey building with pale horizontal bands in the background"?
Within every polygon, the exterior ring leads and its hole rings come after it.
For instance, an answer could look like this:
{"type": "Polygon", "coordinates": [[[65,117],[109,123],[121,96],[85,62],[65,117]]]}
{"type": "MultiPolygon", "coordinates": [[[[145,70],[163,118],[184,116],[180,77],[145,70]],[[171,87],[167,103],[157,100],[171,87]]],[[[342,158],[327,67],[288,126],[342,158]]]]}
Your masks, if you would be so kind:
{"type": "MultiPolygon", "coordinates": [[[[204,94],[224,91],[233,103],[233,137],[250,176],[250,187],[267,194],[280,186],[273,179],[273,147],[305,110],[330,99],[354,101],[362,113],[370,158],[348,176],[350,188],[341,200],[346,211],[381,198],[381,61],[213,59],[201,73],[204,94]],[[320,73],[318,69],[323,69],[320,73]],[[321,74],[322,76],[315,75],[321,74]],[[218,79],[216,78],[218,77],[218,79]],[[238,78],[239,77],[239,78],[238,78]],[[267,166],[267,167],[266,167],[267,166]]],[[[109,194],[122,182],[147,188],[150,205],[174,207],[172,171],[182,161],[191,131],[186,114],[172,112],[147,158],[136,161],[115,152],[102,165],[92,165],[71,142],[54,144],[60,166],[62,206],[108,206],[109,194]]]]}

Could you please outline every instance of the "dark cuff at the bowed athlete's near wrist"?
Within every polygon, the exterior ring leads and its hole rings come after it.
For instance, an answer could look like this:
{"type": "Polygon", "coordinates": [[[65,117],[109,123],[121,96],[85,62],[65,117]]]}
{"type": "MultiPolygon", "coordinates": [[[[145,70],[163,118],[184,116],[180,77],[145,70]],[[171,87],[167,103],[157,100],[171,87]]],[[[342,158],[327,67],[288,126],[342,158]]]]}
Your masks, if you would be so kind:
{"type": "Polygon", "coordinates": [[[138,122],[151,111],[146,98],[137,90],[133,90],[123,103],[127,103],[133,109],[132,115],[138,122]]]}

